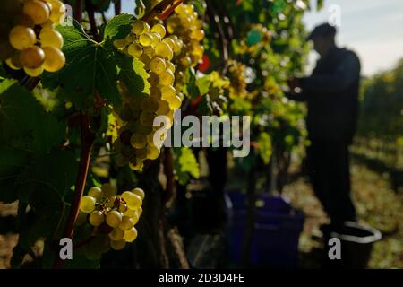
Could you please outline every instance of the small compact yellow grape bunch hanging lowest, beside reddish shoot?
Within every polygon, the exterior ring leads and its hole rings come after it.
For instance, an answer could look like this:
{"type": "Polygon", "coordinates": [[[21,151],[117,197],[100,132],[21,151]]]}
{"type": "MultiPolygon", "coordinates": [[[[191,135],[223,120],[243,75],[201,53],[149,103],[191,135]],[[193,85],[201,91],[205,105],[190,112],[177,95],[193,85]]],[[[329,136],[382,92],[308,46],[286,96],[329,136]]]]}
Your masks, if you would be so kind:
{"type": "Polygon", "coordinates": [[[144,191],[141,188],[116,195],[116,187],[109,183],[100,188],[91,187],[88,195],[81,198],[76,224],[81,226],[87,223],[94,228],[93,235],[104,240],[101,253],[106,252],[109,247],[123,249],[126,243],[137,238],[134,226],[142,213],[143,199],[144,191]]]}

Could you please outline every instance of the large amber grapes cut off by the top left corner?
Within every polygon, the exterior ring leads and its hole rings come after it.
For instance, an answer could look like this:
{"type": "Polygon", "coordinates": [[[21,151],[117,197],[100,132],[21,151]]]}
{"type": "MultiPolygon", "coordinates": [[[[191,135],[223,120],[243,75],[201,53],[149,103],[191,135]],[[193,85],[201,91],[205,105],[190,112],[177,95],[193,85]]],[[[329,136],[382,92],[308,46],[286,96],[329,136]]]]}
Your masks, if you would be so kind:
{"type": "Polygon", "coordinates": [[[64,41],[55,26],[64,22],[59,0],[5,0],[0,20],[0,60],[37,77],[63,68],[64,41]]]}

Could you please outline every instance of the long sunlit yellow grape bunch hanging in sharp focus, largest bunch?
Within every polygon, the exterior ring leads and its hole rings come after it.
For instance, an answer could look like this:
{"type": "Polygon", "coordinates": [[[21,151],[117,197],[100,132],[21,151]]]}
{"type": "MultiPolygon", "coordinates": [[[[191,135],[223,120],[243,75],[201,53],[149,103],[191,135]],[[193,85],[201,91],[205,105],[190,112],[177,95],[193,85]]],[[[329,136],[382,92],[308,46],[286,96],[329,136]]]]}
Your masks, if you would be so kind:
{"type": "Polygon", "coordinates": [[[176,66],[171,60],[183,44],[176,37],[166,38],[166,34],[160,23],[150,27],[148,23],[136,20],[129,35],[114,41],[115,47],[123,53],[140,59],[150,74],[150,96],[147,97],[130,95],[124,82],[119,81],[124,106],[117,110],[122,123],[114,143],[118,166],[129,163],[133,170],[141,170],[143,161],[157,159],[167,130],[173,124],[174,112],[182,105],[174,88],[176,66]],[[157,116],[165,116],[163,129],[153,126],[157,116]]]}

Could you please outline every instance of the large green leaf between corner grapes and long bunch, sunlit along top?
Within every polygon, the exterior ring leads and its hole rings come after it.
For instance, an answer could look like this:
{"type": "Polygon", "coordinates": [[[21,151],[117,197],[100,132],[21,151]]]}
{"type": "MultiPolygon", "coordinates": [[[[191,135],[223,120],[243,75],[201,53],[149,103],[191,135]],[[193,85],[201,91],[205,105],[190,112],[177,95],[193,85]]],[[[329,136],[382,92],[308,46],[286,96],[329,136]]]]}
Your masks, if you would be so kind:
{"type": "Polygon", "coordinates": [[[91,106],[95,91],[108,102],[120,104],[116,87],[116,63],[110,50],[90,39],[79,23],[61,26],[64,37],[66,65],[58,73],[45,73],[45,87],[61,86],[65,100],[71,100],[78,109],[91,106]]]}

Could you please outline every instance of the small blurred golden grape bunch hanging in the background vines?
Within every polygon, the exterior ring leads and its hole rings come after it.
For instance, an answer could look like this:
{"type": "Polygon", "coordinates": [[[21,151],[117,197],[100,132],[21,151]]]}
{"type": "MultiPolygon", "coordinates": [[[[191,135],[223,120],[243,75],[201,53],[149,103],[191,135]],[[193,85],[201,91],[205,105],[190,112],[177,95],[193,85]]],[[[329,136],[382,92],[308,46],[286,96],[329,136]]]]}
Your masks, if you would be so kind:
{"type": "Polygon", "coordinates": [[[229,98],[245,98],[247,96],[247,83],[244,64],[236,60],[229,60],[227,77],[231,83],[229,86],[229,98]]]}

